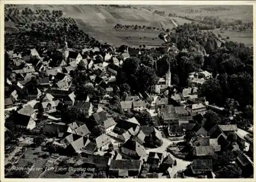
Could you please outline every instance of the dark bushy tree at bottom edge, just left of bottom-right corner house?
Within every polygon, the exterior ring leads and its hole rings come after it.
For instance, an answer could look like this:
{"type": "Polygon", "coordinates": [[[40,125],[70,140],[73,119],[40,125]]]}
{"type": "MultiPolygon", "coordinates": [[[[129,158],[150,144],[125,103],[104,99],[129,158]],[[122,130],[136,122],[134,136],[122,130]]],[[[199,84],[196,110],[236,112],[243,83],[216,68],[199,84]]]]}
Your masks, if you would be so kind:
{"type": "Polygon", "coordinates": [[[221,170],[216,172],[217,178],[240,178],[241,172],[233,165],[224,166],[221,170]]]}

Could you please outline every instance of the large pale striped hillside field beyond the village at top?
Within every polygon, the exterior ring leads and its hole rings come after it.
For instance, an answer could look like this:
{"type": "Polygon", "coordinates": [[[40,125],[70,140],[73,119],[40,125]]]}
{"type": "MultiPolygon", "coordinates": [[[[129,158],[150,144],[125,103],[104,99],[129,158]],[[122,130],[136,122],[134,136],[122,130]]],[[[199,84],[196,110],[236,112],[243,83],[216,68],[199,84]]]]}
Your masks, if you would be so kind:
{"type": "Polygon", "coordinates": [[[142,44],[153,47],[159,46],[163,43],[163,41],[157,38],[161,32],[160,30],[172,29],[175,27],[170,19],[139,9],[114,8],[96,5],[15,6],[15,8],[20,9],[24,9],[26,7],[32,9],[32,11],[39,9],[47,9],[49,11],[62,10],[63,17],[73,18],[77,22],[77,26],[89,36],[94,37],[101,42],[108,42],[115,46],[122,44],[127,44],[131,47],[138,47],[142,44]],[[116,30],[114,27],[117,24],[154,27],[156,30],[116,30]],[[159,31],[157,31],[157,29],[159,29],[159,31]],[[146,38],[141,40],[140,37],[146,38]]]}

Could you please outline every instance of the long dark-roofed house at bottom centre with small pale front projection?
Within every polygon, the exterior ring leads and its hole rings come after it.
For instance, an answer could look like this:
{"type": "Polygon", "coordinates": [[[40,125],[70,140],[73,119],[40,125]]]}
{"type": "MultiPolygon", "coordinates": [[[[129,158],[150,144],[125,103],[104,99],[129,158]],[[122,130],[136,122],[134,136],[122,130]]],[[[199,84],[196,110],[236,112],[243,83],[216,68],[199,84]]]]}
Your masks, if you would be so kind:
{"type": "Polygon", "coordinates": [[[109,176],[115,177],[135,177],[141,170],[140,160],[111,160],[109,176]]]}

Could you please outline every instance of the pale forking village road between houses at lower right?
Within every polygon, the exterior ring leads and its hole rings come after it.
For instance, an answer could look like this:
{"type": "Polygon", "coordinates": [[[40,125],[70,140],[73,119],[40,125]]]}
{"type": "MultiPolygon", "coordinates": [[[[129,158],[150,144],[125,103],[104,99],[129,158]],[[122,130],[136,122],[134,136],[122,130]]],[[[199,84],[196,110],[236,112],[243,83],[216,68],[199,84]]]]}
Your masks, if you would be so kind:
{"type": "MultiPolygon", "coordinates": [[[[147,153],[150,153],[150,152],[162,152],[164,154],[166,154],[166,148],[170,145],[170,144],[173,144],[172,141],[168,140],[168,139],[165,139],[163,138],[163,145],[158,147],[158,148],[146,148],[146,152],[147,153]]],[[[182,170],[185,170],[187,165],[189,165],[191,162],[189,161],[184,161],[184,160],[181,160],[179,158],[176,158],[175,156],[173,156],[171,153],[169,153],[170,156],[172,156],[173,160],[176,160],[177,162],[177,166],[174,166],[173,167],[173,171],[172,173],[170,174],[171,178],[173,178],[173,176],[178,172],[178,171],[182,171],[182,170]]]]}

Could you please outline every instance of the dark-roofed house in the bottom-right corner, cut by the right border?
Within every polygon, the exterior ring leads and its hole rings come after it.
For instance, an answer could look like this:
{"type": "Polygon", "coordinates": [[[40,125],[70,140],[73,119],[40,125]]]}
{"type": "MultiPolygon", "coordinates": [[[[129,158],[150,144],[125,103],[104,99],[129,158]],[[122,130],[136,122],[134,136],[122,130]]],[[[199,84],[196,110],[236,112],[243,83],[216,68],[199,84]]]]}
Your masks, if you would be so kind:
{"type": "Polygon", "coordinates": [[[253,174],[253,162],[242,152],[237,156],[234,165],[245,178],[250,177],[253,174]]]}

